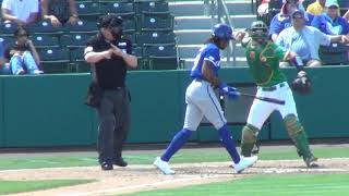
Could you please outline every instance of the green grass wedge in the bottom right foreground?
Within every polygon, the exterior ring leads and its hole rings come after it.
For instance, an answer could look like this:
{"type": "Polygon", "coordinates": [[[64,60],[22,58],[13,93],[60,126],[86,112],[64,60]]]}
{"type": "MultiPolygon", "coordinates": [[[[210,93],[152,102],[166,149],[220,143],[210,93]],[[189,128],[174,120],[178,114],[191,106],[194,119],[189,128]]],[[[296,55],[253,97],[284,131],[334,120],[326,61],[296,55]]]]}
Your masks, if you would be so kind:
{"type": "Polygon", "coordinates": [[[335,196],[349,193],[349,174],[256,175],[239,181],[159,189],[128,195],[157,196],[335,196]]]}

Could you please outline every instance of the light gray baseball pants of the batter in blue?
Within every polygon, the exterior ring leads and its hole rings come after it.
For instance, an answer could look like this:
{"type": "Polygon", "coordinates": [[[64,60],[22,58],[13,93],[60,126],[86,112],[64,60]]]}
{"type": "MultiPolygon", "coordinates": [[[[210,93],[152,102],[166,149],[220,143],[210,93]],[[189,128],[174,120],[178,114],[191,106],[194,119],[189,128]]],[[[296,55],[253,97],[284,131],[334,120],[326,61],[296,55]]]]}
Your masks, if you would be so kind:
{"type": "Polygon", "coordinates": [[[204,115],[216,130],[227,123],[216,94],[208,82],[194,79],[186,88],[185,102],[184,128],[196,131],[204,115]]]}

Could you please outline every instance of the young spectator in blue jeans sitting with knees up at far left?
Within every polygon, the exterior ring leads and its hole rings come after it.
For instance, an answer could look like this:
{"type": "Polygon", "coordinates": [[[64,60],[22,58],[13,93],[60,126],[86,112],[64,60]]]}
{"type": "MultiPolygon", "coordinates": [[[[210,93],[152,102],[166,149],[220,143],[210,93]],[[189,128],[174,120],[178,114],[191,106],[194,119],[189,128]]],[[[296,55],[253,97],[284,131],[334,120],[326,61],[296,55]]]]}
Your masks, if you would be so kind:
{"type": "Polygon", "coordinates": [[[39,56],[28,39],[28,30],[20,26],[14,32],[15,44],[7,47],[4,51],[4,59],[10,62],[10,69],[13,75],[22,74],[41,74],[43,71],[38,69],[40,64],[39,56]]]}

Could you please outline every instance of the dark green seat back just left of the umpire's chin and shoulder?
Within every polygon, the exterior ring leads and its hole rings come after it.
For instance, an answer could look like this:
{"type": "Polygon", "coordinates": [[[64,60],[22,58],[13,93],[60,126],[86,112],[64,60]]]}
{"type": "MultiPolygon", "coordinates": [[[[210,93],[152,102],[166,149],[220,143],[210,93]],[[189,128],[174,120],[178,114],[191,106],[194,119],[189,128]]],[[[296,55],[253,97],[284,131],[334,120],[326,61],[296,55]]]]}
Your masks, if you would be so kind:
{"type": "Polygon", "coordinates": [[[81,48],[86,46],[89,38],[91,36],[86,34],[69,34],[63,35],[60,42],[62,47],[67,47],[69,49],[81,48]]]}

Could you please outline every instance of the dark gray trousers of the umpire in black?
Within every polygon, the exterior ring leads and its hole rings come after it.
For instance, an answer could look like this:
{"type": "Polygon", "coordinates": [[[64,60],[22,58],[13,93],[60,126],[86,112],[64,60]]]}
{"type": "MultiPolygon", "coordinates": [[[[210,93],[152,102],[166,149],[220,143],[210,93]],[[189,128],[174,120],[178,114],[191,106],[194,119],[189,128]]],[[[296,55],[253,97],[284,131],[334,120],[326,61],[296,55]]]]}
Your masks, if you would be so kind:
{"type": "Polygon", "coordinates": [[[121,158],[122,145],[130,128],[130,99],[127,88],[105,90],[100,107],[97,149],[99,163],[121,158]]]}

